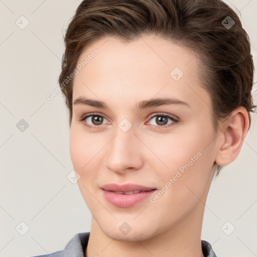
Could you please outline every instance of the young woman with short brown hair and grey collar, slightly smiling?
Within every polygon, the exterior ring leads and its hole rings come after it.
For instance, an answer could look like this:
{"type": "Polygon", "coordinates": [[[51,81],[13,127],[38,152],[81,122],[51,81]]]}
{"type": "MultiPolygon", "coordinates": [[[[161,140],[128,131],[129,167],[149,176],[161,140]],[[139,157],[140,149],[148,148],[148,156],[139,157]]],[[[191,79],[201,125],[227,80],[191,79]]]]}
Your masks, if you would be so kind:
{"type": "Polygon", "coordinates": [[[41,256],[215,257],[201,240],[213,176],[238,156],[253,62],[219,0],[85,0],[60,88],[90,232],[41,256]]]}

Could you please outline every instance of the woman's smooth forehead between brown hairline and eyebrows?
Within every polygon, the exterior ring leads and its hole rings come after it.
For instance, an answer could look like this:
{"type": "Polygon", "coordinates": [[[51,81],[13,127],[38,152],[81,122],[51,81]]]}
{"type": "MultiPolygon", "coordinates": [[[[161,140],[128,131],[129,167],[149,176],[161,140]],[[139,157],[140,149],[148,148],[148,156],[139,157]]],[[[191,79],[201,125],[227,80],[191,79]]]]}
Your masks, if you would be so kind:
{"type": "Polygon", "coordinates": [[[87,96],[132,104],[173,96],[189,104],[198,102],[192,104],[197,109],[210,103],[198,75],[201,64],[196,54],[158,36],[129,43],[103,38],[84,50],[77,67],[81,70],[77,68],[74,78],[73,99],[87,96]]]}

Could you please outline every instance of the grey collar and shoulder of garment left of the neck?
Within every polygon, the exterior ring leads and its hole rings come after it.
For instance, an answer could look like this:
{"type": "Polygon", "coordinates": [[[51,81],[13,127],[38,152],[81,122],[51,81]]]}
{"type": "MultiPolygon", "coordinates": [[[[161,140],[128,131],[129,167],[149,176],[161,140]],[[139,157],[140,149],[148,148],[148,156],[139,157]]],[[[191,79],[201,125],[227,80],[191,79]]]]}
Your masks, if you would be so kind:
{"type": "Polygon", "coordinates": [[[44,255],[36,255],[29,257],[73,257],[84,256],[84,252],[88,243],[90,232],[82,232],[74,235],[66,244],[63,250],[55,251],[44,255]]]}

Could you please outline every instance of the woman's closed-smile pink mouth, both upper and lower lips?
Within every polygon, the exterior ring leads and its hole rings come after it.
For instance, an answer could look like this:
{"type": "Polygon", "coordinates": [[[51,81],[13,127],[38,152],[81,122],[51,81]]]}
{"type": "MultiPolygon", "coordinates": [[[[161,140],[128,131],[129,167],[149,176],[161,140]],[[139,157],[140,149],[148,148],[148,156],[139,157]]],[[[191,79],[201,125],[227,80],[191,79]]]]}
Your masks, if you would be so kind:
{"type": "Polygon", "coordinates": [[[125,185],[107,184],[102,187],[102,192],[107,202],[117,207],[127,208],[127,207],[134,206],[135,204],[145,200],[146,198],[149,198],[154,192],[156,192],[156,189],[142,186],[142,185],[136,185],[136,184],[125,184],[125,185]],[[127,195],[117,194],[115,192],[112,192],[112,191],[130,192],[135,190],[142,190],[144,192],[127,194],[127,195]]]}

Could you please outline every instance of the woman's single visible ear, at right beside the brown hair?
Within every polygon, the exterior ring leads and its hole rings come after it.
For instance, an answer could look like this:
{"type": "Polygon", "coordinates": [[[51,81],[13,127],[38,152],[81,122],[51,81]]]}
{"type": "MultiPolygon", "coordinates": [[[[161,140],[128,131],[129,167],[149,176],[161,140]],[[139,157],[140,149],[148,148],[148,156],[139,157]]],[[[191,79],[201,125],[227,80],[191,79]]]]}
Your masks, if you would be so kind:
{"type": "Polygon", "coordinates": [[[230,116],[220,123],[220,137],[217,145],[215,163],[225,166],[238,156],[249,128],[247,110],[239,106],[230,116]]]}

